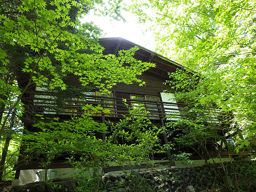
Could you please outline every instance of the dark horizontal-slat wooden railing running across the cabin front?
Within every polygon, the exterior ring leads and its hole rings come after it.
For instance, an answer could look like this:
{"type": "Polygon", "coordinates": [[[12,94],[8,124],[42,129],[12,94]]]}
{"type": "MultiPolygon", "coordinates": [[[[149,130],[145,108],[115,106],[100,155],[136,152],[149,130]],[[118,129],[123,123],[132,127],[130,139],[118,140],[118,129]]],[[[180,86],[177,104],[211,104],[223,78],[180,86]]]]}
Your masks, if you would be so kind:
{"type": "MultiPolygon", "coordinates": [[[[126,99],[126,105],[123,98],[107,97],[107,96],[67,96],[58,95],[53,92],[36,91],[34,99],[30,99],[32,111],[36,114],[73,114],[81,115],[85,111],[82,106],[90,104],[92,106],[102,106],[108,109],[108,113],[99,112],[94,116],[118,117],[128,114],[128,108],[147,110],[148,113],[139,114],[136,116],[144,116],[150,119],[163,119],[166,115],[174,115],[167,120],[176,120],[177,118],[186,118],[188,108],[184,103],[160,102],[151,100],[135,100],[126,99]]],[[[90,110],[88,110],[90,112],[90,110]]],[[[206,114],[196,114],[197,116],[206,114]]],[[[230,114],[212,110],[208,114],[213,121],[228,120],[232,117],[230,114]]]]}

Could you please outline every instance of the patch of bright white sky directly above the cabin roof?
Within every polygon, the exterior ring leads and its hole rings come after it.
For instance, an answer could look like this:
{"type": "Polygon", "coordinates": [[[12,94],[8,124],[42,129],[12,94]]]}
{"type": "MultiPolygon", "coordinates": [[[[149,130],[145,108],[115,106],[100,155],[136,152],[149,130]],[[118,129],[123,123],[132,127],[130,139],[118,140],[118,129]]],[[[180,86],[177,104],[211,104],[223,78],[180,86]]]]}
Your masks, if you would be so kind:
{"type": "Polygon", "coordinates": [[[99,17],[94,16],[94,14],[86,15],[81,21],[93,21],[94,24],[103,30],[102,37],[122,37],[149,50],[155,51],[156,42],[153,32],[145,32],[147,26],[138,24],[138,18],[131,13],[125,12],[122,15],[126,19],[125,23],[123,21],[111,21],[107,16],[99,17]]]}

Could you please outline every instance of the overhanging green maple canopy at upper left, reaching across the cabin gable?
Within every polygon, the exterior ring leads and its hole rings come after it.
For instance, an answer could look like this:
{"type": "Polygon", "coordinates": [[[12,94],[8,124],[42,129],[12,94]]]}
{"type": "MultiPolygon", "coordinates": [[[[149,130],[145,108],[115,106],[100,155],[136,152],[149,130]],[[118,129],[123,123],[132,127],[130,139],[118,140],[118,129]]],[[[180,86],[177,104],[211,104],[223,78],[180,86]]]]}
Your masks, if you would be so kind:
{"type": "MultiPolygon", "coordinates": [[[[2,10],[1,42],[26,48],[21,70],[30,74],[37,85],[48,81],[50,88],[64,90],[62,77],[67,73],[78,76],[84,86],[92,82],[100,89],[109,89],[116,82],[141,82],[136,75],[153,65],[132,57],[138,48],[105,56],[96,39],[100,29],[92,22],[80,22],[82,15],[96,4],[106,6],[103,1],[24,0],[10,10],[17,14],[15,17],[2,10]]],[[[116,9],[108,11],[113,14],[116,9]]],[[[4,48],[0,50],[2,70],[11,62],[11,49],[9,53],[4,48]]]]}

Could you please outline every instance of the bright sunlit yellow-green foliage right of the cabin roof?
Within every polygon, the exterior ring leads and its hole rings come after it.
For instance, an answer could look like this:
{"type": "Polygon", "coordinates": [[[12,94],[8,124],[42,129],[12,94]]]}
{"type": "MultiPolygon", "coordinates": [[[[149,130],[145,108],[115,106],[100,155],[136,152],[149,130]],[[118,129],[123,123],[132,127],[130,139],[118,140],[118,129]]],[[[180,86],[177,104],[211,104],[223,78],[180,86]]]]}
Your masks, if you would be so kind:
{"type": "Polygon", "coordinates": [[[158,42],[157,51],[184,64],[188,71],[171,74],[174,89],[182,90],[178,98],[232,113],[232,129],[237,132],[234,140],[246,138],[253,148],[255,0],[133,2],[134,12],[142,20],[153,22],[151,29],[158,42]]]}

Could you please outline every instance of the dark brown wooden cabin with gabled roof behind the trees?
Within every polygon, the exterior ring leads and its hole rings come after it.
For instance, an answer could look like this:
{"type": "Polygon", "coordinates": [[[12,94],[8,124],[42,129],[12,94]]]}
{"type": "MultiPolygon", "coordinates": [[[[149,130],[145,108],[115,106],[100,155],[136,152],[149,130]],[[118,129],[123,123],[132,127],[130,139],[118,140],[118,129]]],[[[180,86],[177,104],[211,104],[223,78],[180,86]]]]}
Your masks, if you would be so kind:
{"type": "MultiPolygon", "coordinates": [[[[30,100],[27,103],[32,103],[30,113],[69,119],[70,115],[79,115],[84,112],[82,110],[84,104],[92,104],[110,110],[109,113],[95,115],[93,117],[95,120],[99,122],[105,122],[106,120],[117,122],[123,114],[127,113],[123,104],[123,99],[126,99],[128,106],[143,105],[150,112],[145,117],[160,127],[164,126],[166,121],[175,120],[166,119],[166,114],[175,112],[182,114],[184,112],[185,105],[176,102],[172,93],[164,93],[164,90],[170,90],[171,92],[171,89],[168,85],[163,84],[166,80],[170,80],[168,72],[174,72],[177,68],[182,68],[182,65],[123,38],[101,38],[99,41],[105,48],[105,54],[117,54],[119,50],[127,50],[138,46],[139,50],[136,51],[134,57],[143,62],[156,64],[155,68],[150,68],[140,76],[140,79],[146,82],[146,85],[140,87],[136,83],[130,85],[119,83],[110,90],[111,92],[108,95],[104,95],[94,88],[79,94],[62,94],[62,101],[64,97],[64,102],[62,102],[61,107],[58,107],[56,100],[58,100],[59,95],[56,92],[49,92],[42,87],[36,87],[33,96],[26,98],[30,100]]],[[[76,76],[68,76],[66,84],[78,89],[81,87],[76,76]]],[[[30,126],[29,123],[26,126],[30,126]]],[[[163,144],[168,142],[166,134],[160,135],[160,139],[163,144]]],[[[162,162],[162,164],[167,163],[167,160],[162,162]]],[[[20,184],[33,182],[35,181],[36,171],[40,168],[42,167],[36,162],[16,166],[16,180],[19,180],[20,184]]],[[[58,178],[67,177],[67,175],[64,176],[65,172],[72,174],[70,165],[63,162],[55,162],[48,168],[58,169],[58,178]]],[[[118,170],[118,168],[105,170],[105,172],[113,170],[118,170]]]]}

